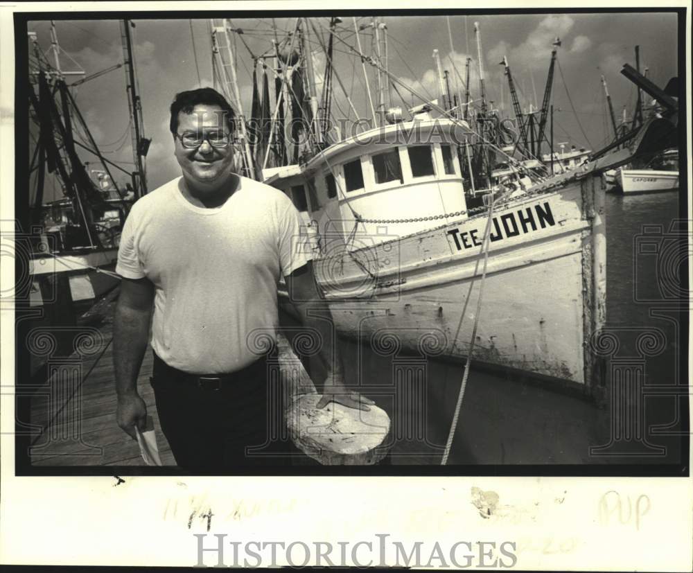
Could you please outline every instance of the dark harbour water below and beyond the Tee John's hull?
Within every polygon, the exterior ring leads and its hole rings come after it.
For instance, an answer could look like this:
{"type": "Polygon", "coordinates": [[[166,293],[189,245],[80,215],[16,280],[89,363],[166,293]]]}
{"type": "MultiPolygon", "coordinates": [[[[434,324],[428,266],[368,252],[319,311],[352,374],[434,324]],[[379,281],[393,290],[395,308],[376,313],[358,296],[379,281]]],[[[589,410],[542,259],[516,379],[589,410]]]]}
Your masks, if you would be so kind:
{"type": "MultiPolygon", "coordinates": [[[[620,371],[644,368],[644,382],[649,386],[685,384],[677,368],[680,341],[674,284],[681,257],[686,255],[676,241],[666,238],[677,213],[677,193],[606,195],[607,330],[616,333],[620,342],[616,356],[625,360],[610,365],[620,371]],[[644,229],[645,225],[651,228],[644,229]],[[658,229],[663,234],[643,233],[658,229]],[[646,247],[639,247],[641,243],[647,243],[646,247]],[[659,245],[658,254],[651,252],[655,250],[652,245],[659,245]],[[640,360],[638,337],[645,332],[659,336],[663,344],[656,349],[656,356],[640,360]]],[[[376,395],[369,394],[367,387],[393,380],[392,358],[349,341],[344,341],[342,355],[347,382],[356,383],[361,378],[365,394],[392,419],[396,441],[391,463],[439,464],[463,365],[429,361],[425,391],[417,394],[410,381],[398,385],[396,392],[376,395]]],[[[473,368],[448,464],[679,463],[679,437],[656,433],[658,430],[651,427],[676,420],[676,398],[656,396],[651,390],[644,400],[642,427],[644,440],[651,446],[637,441],[635,450],[628,450],[637,454],[635,457],[615,455],[613,450],[596,457],[590,455],[590,446],[608,443],[611,434],[608,406],[599,408],[590,400],[518,380],[507,373],[473,368]],[[665,446],[666,451],[656,452],[652,446],[665,446]],[[642,456],[642,452],[656,455],[642,456]]]]}

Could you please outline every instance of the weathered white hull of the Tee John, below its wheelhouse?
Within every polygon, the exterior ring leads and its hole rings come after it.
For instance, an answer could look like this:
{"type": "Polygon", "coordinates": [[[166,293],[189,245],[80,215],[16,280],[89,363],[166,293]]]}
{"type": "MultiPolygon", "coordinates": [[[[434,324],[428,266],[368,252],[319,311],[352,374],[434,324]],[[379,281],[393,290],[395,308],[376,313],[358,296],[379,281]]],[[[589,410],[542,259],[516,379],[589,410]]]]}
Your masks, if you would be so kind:
{"type": "MultiPolygon", "coordinates": [[[[600,385],[591,341],[605,319],[603,211],[601,177],[495,207],[475,362],[574,382],[586,391],[600,385]]],[[[477,215],[317,256],[315,273],[339,333],[384,355],[466,358],[487,220],[477,215]]],[[[280,290],[280,301],[288,302],[286,291],[280,290]]]]}

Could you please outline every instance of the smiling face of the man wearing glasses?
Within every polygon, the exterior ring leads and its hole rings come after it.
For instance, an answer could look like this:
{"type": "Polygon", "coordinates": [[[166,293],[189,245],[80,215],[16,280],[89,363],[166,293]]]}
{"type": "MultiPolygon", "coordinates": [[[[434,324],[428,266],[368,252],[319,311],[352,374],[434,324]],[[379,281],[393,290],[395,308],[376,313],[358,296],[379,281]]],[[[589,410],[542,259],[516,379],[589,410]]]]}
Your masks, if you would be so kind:
{"type": "MultiPolygon", "coordinates": [[[[218,105],[198,104],[191,114],[178,114],[178,136],[175,137],[174,155],[181,166],[188,184],[199,183],[199,191],[214,186],[225,179],[231,172],[231,162],[234,152],[231,143],[226,147],[214,147],[206,136],[229,134],[229,127],[224,112],[218,105]],[[183,134],[204,135],[199,146],[186,148],[183,146],[183,134]]],[[[194,139],[194,138],[193,138],[194,139]]]]}

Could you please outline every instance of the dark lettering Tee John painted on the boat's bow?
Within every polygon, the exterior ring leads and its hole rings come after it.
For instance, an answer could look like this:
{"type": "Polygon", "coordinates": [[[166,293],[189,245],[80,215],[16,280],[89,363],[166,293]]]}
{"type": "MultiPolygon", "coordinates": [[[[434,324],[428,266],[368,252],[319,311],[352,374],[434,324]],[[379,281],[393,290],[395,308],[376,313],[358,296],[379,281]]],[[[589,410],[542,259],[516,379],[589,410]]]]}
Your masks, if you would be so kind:
{"type": "MultiPolygon", "coordinates": [[[[516,237],[520,234],[531,233],[546,227],[553,227],[556,221],[554,220],[554,214],[551,212],[550,204],[545,202],[543,205],[536,204],[534,207],[526,207],[525,209],[511,211],[511,213],[494,217],[492,224],[493,227],[491,228],[489,239],[491,243],[495,243],[497,240],[516,237]]],[[[484,231],[480,229],[460,231],[455,228],[446,231],[446,234],[453,238],[458,251],[481,247],[484,238],[484,231]]]]}

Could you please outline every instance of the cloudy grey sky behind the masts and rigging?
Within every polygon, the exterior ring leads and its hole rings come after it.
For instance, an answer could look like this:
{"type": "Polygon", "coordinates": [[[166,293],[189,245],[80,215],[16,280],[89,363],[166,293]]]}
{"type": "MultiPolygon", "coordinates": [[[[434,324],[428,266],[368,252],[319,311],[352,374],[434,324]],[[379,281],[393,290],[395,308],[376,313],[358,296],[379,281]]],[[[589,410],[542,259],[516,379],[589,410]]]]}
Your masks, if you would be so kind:
{"type": "MultiPolygon", "coordinates": [[[[338,15],[338,14],[337,14],[338,15]]],[[[271,49],[272,26],[288,30],[296,18],[231,19],[231,26],[243,30],[234,39],[241,104],[246,115],[251,101],[252,56],[271,49]],[[245,44],[243,43],[245,42],[245,44]]],[[[486,97],[501,114],[512,116],[507,79],[500,65],[505,56],[511,67],[523,107],[530,103],[541,106],[552,42],[561,39],[554,71],[552,103],[554,105],[554,141],[596,150],[613,135],[606,115],[606,100],[601,84],[606,78],[617,120],[626,107],[629,117],[635,105],[636,90],[620,74],[626,62],[635,65],[635,45],[640,46],[641,69],[648,68],[648,77],[663,87],[676,75],[678,37],[676,15],[665,13],[569,14],[545,13],[530,15],[412,15],[378,16],[387,26],[388,67],[405,84],[416,91],[436,97],[437,73],[432,57],[439,51],[441,65],[450,71],[451,87],[457,76],[464,78],[467,54],[471,66],[471,97],[479,97],[478,58],[474,22],[479,24],[482,44],[486,97]],[[449,26],[449,27],[448,27],[449,26]],[[536,97],[535,97],[536,94],[536,97]]],[[[311,19],[325,32],[327,18],[311,19]]],[[[357,24],[368,24],[371,17],[357,18],[357,24]]],[[[179,175],[173,157],[173,141],[168,131],[168,108],[178,91],[200,85],[212,85],[211,39],[209,19],[134,19],[134,58],[137,62],[139,93],[142,101],[144,131],[152,144],[147,156],[148,186],[151,189],[179,175]],[[194,42],[193,42],[194,39],[194,42]],[[194,48],[194,49],[193,49],[194,48]]],[[[82,69],[87,76],[123,61],[121,28],[118,20],[58,20],[56,33],[61,49],[60,64],[64,70],[82,69]]],[[[343,17],[340,24],[347,44],[356,46],[353,20],[343,17]]],[[[28,30],[37,33],[42,51],[49,52],[50,22],[30,21],[28,30]]],[[[311,35],[313,30],[311,29],[311,35]]],[[[360,33],[363,51],[372,48],[372,28],[360,33]]],[[[315,35],[310,37],[318,82],[322,78],[325,58],[315,35]]],[[[363,117],[369,116],[365,78],[360,60],[337,43],[335,67],[353,104],[363,117]]],[[[50,53],[49,53],[50,55],[50,53]]],[[[368,69],[371,92],[375,92],[376,76],[368,69]]],[[[68,83],[74,80],[68,80],[68,83]]],[[[459,80],[457,80],[459,87],[459,80]]],[[[320,85],[317,86],[318,91],[320,85]]],[[[132,147],[128,127],[128,99],[125,68],[121,67],[89,80],[76,88],[76,98],[94,139],[105,157],[131,170],[132,147]],[[129,162],[129,163],[128,163],[129,162]]],[[[460,88],[461,89],[461,88],[460,88]]],[[[400,89],[404,91],[403,89],[400,89]]],[[[347,103],[335,83],[337,103],[347,112],[347,103]]],[[[408,105],[420,103],[405,96],[408,105]]],[[[375,97],[375,96],[374,96],[375,97]]],[[[393,92],[394,105],[404,105],[393,92]]],[[[337,113],[338,109],[337,109],[337,113]]],[[[83,155],[85,161],[94,157],[83,155]]],[[[92,164],[92,167],[96,167],[92,164]]],[[[124,182],[125,175],[116,176],[124,182]]],[[[55,186],[48,185],[45,200],[58,198],[55,186]],[[53,196],[51,196],[53,195],[53,196]]]]}

